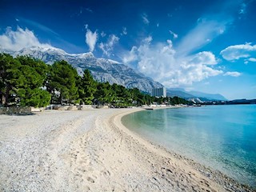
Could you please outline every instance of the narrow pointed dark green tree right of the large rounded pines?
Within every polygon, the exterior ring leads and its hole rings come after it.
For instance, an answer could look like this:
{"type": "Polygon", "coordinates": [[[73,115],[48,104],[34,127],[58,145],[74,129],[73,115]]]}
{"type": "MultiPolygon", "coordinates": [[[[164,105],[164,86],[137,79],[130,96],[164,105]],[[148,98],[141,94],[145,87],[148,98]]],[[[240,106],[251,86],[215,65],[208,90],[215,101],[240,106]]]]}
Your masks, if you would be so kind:
{"type": "Polygon", "coordinates": [[[79,98],[82,99],[86,105],[91,105],[94,99],[94,94],[97,91],[97,82],[94,81],[90,70],[84,70],[84,74],[79,81],[79,98]]]}

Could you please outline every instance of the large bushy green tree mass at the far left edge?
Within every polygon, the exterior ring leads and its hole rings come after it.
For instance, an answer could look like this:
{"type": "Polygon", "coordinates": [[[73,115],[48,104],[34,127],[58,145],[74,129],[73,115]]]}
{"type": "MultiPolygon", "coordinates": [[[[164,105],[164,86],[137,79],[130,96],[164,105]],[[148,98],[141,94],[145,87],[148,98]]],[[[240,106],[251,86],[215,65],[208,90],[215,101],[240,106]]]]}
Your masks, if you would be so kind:
{"type": "Polygon", "coordinates": [[[10,96],[14,98],[13,104],[21,106],[49,104],[50,94],[42,90],[47,70],[44,62],[26,56],[13,58],[9,54],[1,54],[0,63],[2,104],[8,106],[10,96]]]}

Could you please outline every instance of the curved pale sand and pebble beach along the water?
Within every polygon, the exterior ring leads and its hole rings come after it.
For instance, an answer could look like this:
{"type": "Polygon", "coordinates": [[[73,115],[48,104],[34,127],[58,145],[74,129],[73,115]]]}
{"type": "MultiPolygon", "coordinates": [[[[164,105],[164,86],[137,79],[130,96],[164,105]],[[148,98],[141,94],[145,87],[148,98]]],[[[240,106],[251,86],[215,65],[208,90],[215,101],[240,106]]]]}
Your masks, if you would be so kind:
{"type": "Polygon", "coordinates": [[[126,130],[120,118],[132,111],[0,116],[0,190],[226,191],[186,159],[126,130]]]}

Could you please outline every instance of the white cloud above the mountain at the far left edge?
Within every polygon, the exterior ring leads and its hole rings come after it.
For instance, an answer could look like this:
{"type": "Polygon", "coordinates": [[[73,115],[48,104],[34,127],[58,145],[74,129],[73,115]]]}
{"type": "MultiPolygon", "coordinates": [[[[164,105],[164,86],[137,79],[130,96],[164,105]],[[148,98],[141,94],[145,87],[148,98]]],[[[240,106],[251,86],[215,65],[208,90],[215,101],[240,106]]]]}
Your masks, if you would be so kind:
{"type": "Polygon", "coordinates": [[[18,51],[31,46],[52,47],[49,44],[39,42],[33,31],[23,30],[19,26],[16,31],[8,27],[6,33],[0,35],[0,50],[2,51],[18,51]]]}

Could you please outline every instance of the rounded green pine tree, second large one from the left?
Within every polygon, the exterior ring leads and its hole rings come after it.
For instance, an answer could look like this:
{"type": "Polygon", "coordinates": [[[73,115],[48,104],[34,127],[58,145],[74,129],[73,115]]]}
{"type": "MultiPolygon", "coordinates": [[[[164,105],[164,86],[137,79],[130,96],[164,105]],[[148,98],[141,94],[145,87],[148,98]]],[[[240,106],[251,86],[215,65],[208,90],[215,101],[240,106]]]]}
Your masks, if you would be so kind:
{"type": "Polygon", "coordinates": [[[52,94],[52,102],[76,102],[78,98],[78,72],[66,61],[54,62],[47,79],[47,90],[52,94]],[[57,98],[54,101],[53,98],[57,98]]]}

